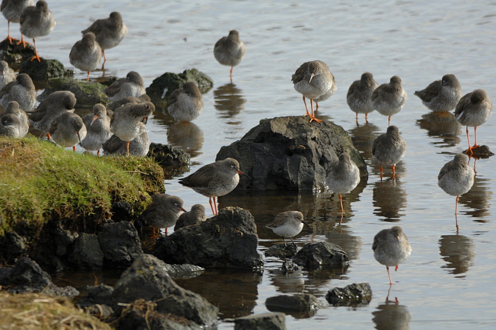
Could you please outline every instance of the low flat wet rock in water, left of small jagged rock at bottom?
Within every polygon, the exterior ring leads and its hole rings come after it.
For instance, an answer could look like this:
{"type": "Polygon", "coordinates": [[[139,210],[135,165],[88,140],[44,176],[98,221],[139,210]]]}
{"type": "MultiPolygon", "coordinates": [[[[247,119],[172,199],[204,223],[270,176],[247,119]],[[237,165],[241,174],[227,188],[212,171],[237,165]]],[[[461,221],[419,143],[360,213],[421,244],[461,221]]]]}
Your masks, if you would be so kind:
{"type": "Polygon", "coordinates": [[[315,315],[321,306],[320,301],[314,295],[307,293],[275,296],[265,300],[265,307],[269,311],[291,314],[298,319],[315,315]]]}

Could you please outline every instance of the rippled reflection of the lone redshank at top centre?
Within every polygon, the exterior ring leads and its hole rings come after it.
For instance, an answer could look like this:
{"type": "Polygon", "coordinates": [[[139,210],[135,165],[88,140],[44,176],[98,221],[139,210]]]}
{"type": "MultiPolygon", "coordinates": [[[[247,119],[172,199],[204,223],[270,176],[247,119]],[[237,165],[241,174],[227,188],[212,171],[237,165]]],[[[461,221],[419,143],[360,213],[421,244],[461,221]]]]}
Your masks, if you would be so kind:
{"type": "Polygon", "coordinates": [[[233,117],[245,108],[247,99],[243,91],[229,83],[214,90],[214,107],[222,113],[222,118],[233,117]]]}

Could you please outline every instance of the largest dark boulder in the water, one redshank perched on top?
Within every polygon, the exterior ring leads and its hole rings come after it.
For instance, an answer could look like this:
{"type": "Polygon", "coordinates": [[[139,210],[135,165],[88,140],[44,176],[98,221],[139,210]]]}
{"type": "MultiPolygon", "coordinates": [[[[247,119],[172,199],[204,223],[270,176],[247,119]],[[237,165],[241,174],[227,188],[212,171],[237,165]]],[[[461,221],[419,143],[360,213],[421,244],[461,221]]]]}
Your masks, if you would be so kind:
{"type": "Polygon", "coordinates": [[[228,157],[240,162],[238,190],[310,190],[325,187],[325,171],[348,152],[366,178],[367,165],[351,137],[331,122],[309,123],[303,116],[263,119],[241,140],[223,146],[215,160],[228,157]]]}

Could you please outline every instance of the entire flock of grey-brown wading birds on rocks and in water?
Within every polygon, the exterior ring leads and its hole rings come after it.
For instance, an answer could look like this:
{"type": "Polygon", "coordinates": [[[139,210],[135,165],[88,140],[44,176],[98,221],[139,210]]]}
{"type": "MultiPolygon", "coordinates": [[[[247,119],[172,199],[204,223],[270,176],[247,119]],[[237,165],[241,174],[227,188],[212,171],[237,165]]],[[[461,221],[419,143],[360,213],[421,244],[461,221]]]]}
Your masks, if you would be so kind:
{"type": "MultiPolygon", "coordinates": [[[[7,19],[10,43],[17,40],[10,37],[10,22],[19,22],[21,40],[18,44],[25,46],[23,35],[32,38],[35,56],[31,59],[40,61],[36,49],[35,38],[46,36],[55,28],[55,20],[48,9],[47,2],[39,0],[36,6],[33,0],[2,0],[1,12],[7,19]]],[[[122,16],[112,12],[109,18],[98,19],[90,27],[81,31],[83,37],[77,41],[69,53],[70,63],[87,71],[100,65],[102,56],[106,61],[105,50],[117,46],[127,34],[122,16]]],[[[216,60],[226,66],[237,66],[245,56],[245,45],[236,30],[229,32],[227,37],[217,41],[214,46],[216,60]]],[[[36,103],[36,91],[33,82],[27,74],[15,77],[12,69],[5,62],[0,62],[2,74],[0,90],[0,106],[3,109],[0,117],[0,134],[7,136],[24,136],[28,131],[28,116],[25,111],[31,111],[36,103]]],[[[302,64],[292,75],[295,90],[303,94],[306,114],[310,122],[320,123],[313,112],[313,101],[318,107],[319,101],[326,100],[336,91],[334,76],[329,67],[322,61],[310,61],[302,64]],[[310,111],[306,98],[310,99],[310,111]]],[[[144,125],[155,107],[145,94],[143,79],[137,72],[129,72],[126,78],[118,79],[107,87],[105,93],[113,101],[109,110],[103,104],[96,104],[93,114],[82,119],[74,114],[76,99],[69,91],[52,93],[42,101],[37,109],[29,116],[29,122],[38,130],[52,137],[54,142],[63,147],[80,145],[87,150],[103,148],[106,154],[133,154],[144,156],[148,152],[149,139],[144,125]],[[112,110],[114,111],[112,113],[112,110]],[[109,116],[110,115],[110,116],[109,116]],[[125,145],[125,147],[124,147],[125,145]]],[[[462,97],[461,86],[453,74],[446,74],[442,80],[431,83],[427,88],[414,93],[422,103],[434,112],[448,112],[455,109],[455,117],[461,125],[467,127],[468,154],[477,148],[477,127],[484,124],[491,116],[493,105],[486,91],[476,89],[462,97]],[[474,127],[475,145],[470,145],[468,127],[474,127]]],[[[398,76],[391,77],[389,83],[379,86],[373,79],[372,73],[365,72],[360,80],[354,81],[347,93],[347,103],[358,114],[367,115],[376,110],[381,115],[391,116],[398,113],[407,100],[407,93],[401,85],[398,76]]],[[[196,119],[203,110],[201,93],[194,82],[186,83],[171,95],[167,109],[170,115],[180,122],[196,119]]],[[[379,135],[372,144],[372,154],[380,162],[380,177],[382,164],[392,166],[392,176],[395,176],[395,164],[406,152],[406,142],[400,136],[396,126],[389,126],[386,133],[379,135]]],[[[179,181],[180,184],[192,188],[195,192],[209,198],[213,214],[217,214],[216,197],[224,196],[236,188],[239,174],[246,175],[240,170],[237,160],[227,158],[199,168],[193,174],[179,181]]],[[[329,188],[339,195],[341,211],[343,212],[341,194],[349,193],[360,181],[357,165],[350,159],[348,153],[339,155],[339,159],[329,165],[326,172],[326,183],[329,188]]],[[[447,162],[438,175],[438,185],[447,194],[456,196],[456,205],[460,195],[470,190],[474,183],[474,171],[467,164],[466,156],[462,153],[455,155],[447,162]]],[[[183,200],[177,196],[155,194],[152,204],[143,213],[144,219],[155,228],[175,226],[175,230],[195,224],[206,219],[205,208],[201,204],[191,207],[187,212],[183,208],[183,200]]],[[[309,226],[299,211],[286,211],[276,215],[275,220],[267,227],[284,238],[299,234],[303,225],[309,226]]],[[[310,227],[310,226],[309,226],[310,227]]],[[[155,232],[154,232],[155,234],[155,232]]],[[[384,264],[389,281],[389,267],[405,261],[411,253],[411,247],[401,227],[379,231],[373,241],[372,250],[375,259],[384,264]]]]}

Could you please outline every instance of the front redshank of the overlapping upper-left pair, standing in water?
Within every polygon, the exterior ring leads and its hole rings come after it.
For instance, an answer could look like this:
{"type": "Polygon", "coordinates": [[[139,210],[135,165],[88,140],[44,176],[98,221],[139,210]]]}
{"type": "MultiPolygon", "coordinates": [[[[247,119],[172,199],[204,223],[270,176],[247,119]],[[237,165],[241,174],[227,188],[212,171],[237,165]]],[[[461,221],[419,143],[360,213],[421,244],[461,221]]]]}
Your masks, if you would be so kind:
{"type": "Polygon", "coordinates": [[[69,63],[88,72],[86,81],[90,80],[90,71],[96,69],[101,61],[102,49],[92,32],[85,33],[81,40],[76,41],[69,53],[69,63]]]}

